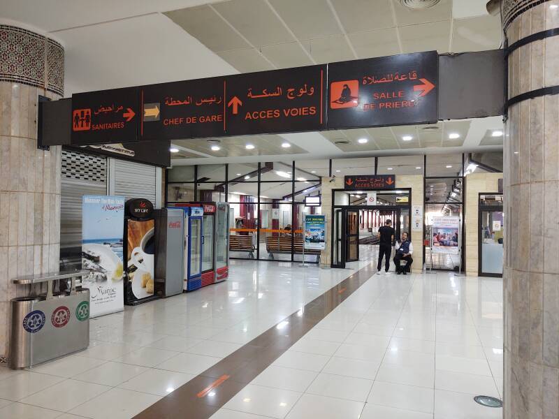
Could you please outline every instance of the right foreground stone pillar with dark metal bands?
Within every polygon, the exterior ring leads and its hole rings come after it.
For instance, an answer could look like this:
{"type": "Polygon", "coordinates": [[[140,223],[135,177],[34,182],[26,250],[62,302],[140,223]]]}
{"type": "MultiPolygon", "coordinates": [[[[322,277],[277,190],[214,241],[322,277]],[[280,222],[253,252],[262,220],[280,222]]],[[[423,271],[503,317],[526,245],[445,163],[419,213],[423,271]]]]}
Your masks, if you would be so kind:
{"type": "MultiPolygon", "coordinates": [[[[508,44],[559,28],[559,0],[502,0],[508,44]]],[[[559,36],[509,55],[508,96],[559,85],[559,36]]],[[[522,96],[521,98],[525,98],[522,96]]],[[[559,418],[559,95],[511,105],[504,141],[504,418],[559,418]]]]}

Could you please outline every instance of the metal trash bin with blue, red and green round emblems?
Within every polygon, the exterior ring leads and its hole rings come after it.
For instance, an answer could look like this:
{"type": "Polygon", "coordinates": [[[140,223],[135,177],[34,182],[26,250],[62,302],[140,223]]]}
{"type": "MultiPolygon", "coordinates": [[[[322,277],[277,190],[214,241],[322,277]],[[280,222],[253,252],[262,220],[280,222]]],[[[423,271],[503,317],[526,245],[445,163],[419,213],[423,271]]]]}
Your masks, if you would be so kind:
{"type": "MultiPolygon", "coordinates": [[[[9,365],[32,367],[89,346],[89,289],[76,284],[87,271],[56,272],[14,279],[31,285],[31,296],[11,300],[9,365]],[[71,281],[67,290],[53,295],[55,281],[71,281]],[[46,295],[36,292],[48,284],[46,295]]],[[[59,286],[60,288],[60,286],[59,286]]]]}

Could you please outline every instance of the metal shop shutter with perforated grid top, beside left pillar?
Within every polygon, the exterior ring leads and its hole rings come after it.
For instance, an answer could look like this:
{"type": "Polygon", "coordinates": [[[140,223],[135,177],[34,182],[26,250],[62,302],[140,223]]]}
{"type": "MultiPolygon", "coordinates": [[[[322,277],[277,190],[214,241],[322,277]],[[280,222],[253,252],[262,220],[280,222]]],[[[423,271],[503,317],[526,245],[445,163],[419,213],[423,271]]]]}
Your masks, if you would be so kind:
{"type": "Polygon", "coordinates": [[[61,254],[75,253],[76,251],[78,255],[80,254],[82,247],[82,196],[106,195],[107,184],[106,157],[62,150],[61,254]]]}

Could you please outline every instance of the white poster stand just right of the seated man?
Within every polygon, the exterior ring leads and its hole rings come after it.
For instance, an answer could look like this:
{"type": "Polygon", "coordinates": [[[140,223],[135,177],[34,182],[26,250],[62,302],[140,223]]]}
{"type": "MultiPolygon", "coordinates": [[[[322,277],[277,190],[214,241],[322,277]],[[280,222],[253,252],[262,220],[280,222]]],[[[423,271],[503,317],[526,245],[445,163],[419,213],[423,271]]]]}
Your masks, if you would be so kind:
{"type": "Polygon", "coordinates": [[[460,217],[434,216],[430,240],[431,253],[439,253],[450,258],[454,268],[461,271],[460,258],[460,217]]]}

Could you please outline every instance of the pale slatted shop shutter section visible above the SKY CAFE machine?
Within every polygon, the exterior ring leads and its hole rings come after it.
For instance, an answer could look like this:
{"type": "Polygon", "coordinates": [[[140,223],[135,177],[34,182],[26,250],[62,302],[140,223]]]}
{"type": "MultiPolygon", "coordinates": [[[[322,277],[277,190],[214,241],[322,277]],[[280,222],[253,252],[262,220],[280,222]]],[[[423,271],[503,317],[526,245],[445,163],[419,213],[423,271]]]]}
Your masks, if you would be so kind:
{"type": "Polygon", "coordinates": [[[147,198],[156,205],[155,166],[115,159],[115,195],[147,198]]]}

